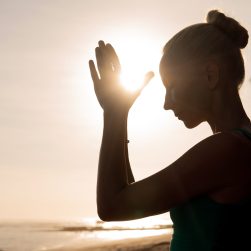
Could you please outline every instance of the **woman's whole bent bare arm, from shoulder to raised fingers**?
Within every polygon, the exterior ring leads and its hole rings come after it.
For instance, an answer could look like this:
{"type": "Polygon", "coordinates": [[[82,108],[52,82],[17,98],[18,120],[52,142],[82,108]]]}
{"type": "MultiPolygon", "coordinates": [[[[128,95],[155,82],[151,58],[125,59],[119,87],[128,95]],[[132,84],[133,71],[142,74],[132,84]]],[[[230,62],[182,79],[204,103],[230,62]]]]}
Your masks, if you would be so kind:
{"type": "Polygon", "coordinates": [[[126,93],[118,85],[116,60],[111,60],[115,52],[109,48],[103,42],[96,48],[100,78],[90,62],[95,92],[104,110],[97,184],[101,219],[132,220],[164,213],[238,179],[238,166],[245,161],[243,144],[222,133],[203,140],[160,172],[134,183],[128,180],[127,116],[139,93],[126,93]]]}

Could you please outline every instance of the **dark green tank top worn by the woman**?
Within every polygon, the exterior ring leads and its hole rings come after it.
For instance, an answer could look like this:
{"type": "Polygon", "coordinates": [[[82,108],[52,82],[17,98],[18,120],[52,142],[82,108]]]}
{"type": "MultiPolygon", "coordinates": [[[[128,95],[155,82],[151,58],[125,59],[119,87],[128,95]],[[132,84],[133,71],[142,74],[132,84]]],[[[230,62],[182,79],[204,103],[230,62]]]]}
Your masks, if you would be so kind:
{"type": "MultiPolygon", "coordinates": [[[[249,132],[238,132],[251,140],[249,132]]],[[[170,251],[251,250],[251,197],[222,204],[204,195],[171,209],[170,216],[170,251]]]]}

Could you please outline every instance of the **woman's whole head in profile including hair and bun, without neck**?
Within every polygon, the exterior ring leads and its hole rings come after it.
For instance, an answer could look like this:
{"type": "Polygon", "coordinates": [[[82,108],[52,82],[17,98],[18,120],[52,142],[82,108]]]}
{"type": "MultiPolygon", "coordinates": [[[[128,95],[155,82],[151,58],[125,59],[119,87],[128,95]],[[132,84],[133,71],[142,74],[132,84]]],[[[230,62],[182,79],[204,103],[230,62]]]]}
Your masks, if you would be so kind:
{"type": "Polygon", "coordinates": [[[164,46],[160,75],[164,109],[193,128],[207,120],[215,90],[238,92],[245,77],[242,48],[248,32],[233,18],[212,10],[207,23],[188,26],[164,46]]]}

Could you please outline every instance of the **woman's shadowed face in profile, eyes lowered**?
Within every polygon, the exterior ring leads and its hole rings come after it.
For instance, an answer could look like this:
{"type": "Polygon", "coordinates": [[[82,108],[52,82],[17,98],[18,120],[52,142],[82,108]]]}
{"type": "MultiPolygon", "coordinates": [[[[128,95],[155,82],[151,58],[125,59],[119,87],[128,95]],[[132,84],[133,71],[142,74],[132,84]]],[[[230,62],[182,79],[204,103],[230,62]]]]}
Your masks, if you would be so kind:
{"type": "Polygon", "coordinates": [[[164,109],[173,110],[188,128],[207,120],[210,112],[211,91],[204,69],[203,64],[172,64],[161,74],[166,88],[164,109]]]}

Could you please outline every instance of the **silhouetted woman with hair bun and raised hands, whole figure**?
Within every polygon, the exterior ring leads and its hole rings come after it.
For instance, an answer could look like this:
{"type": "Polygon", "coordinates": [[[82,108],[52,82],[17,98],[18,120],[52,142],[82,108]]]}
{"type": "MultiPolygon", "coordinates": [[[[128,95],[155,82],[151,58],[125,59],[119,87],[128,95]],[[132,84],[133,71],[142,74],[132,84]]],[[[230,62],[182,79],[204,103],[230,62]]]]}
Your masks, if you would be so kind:
{"type": "MultiPolygon", "coordinates": [[[[164,47],[160,74],[165,110],[187,128],[208,122],[213,135],[160,172],[135,182],[128,160],[127,116],[140,94],[118,84],[119,59],[99,42],[90,71],[104,110],[97,208],[105,221],[170,211],[172,251],[251,250],[251,123],[238,90],[244,80],[240,49],[247,31],[216,10],[164,47]]],[[[146,75],[145,84],[153,77],[146,75]]]]}

